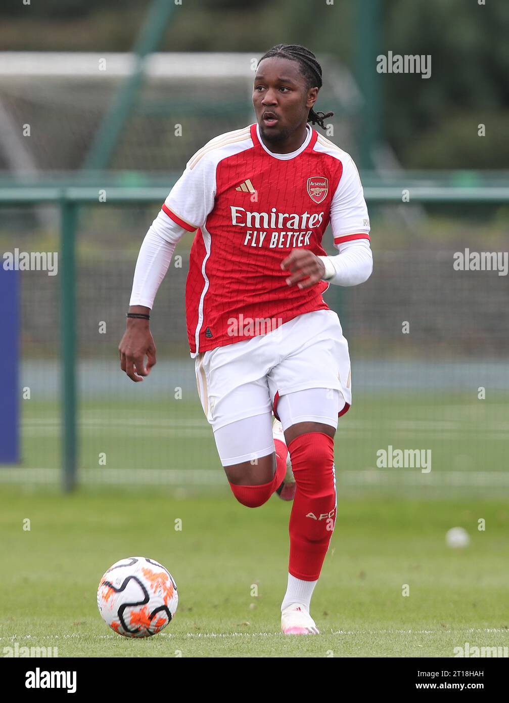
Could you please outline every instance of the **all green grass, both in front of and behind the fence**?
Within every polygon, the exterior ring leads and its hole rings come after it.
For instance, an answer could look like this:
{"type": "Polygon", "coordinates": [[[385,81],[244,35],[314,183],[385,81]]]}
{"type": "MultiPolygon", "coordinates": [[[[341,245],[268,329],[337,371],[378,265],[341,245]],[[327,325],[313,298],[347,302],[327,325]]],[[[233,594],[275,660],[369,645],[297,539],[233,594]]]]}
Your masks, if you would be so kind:
{"type": "MultiPolygon", "coordinates": [[[[119,472],[200,468],[221,479],[196,402],[139,401],[134,389],[132,400],[79,409],[82,475],[105,453],[119,472]]],[[[22,467],[56,471],[58,405],[34,400],[22,410],[22,467]]],[[[453,657],[466,642],[507,646],[507,489],[425,487],[442,471],[504,472],[507,429],[503,394],[484,402],[473,391],[357,394],[335,443],[338,517],[311,604],[319,636],[279,630],[291,505],[277,496],[252,510],[226,479],[201,488],[86,486],[70,496],[2,484],[0,646],[58,647],[60,657],[453,657]],[[373,468],[389,444],[431,449],[432,472],[406,494],[343,485],[342,472],[373,468]],[[465,550],[445,545],[456,525],[470,534],[465,550]],[[174,621],[147,640],[116,635],[96,607],[103,572],[132,555],[160,561],[179,589],[174,621]]]]}

